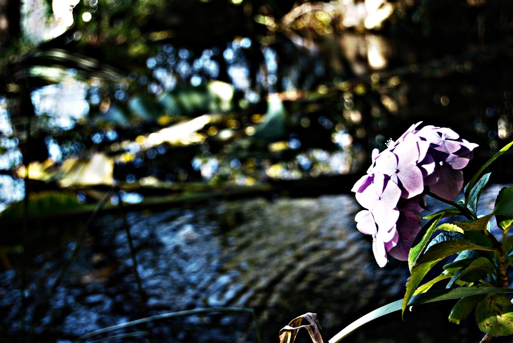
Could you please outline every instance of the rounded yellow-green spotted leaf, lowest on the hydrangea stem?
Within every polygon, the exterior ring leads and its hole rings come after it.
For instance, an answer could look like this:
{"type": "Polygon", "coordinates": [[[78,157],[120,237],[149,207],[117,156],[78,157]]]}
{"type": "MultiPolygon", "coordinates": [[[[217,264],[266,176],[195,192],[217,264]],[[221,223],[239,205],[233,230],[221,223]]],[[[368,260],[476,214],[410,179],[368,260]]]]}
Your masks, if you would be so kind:
{"type": "Polygon", "coordinates": [[[513,334],[513,304],[505,294],[488,294],[476,306],[479,329],[492,336],[513,334]]]}

